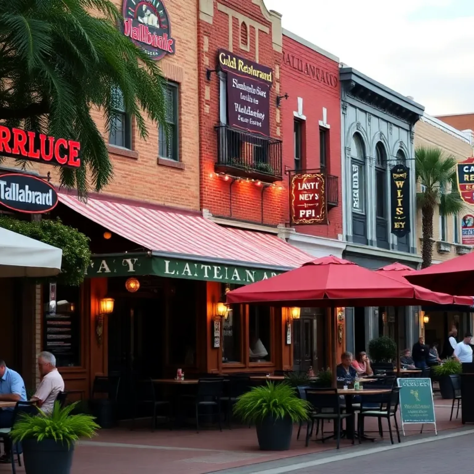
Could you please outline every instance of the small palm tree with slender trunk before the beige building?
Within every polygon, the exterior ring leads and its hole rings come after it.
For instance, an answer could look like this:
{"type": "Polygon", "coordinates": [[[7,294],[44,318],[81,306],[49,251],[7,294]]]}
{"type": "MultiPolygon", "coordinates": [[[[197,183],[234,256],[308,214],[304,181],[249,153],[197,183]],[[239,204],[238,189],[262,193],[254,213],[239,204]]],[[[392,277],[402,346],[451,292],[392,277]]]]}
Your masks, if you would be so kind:
{"type": "Polygon", "coordinates": [[[419,146],[415,150],[416,179],[423,188],[417,193],[417,207],[422,215],[422,268],[431,265],[433,257],[435,209],[438,207],[444,216],[456,216],[465,208],[457,187],[456,163],[453,155],[445,155],[440,148],[419,146]]]}

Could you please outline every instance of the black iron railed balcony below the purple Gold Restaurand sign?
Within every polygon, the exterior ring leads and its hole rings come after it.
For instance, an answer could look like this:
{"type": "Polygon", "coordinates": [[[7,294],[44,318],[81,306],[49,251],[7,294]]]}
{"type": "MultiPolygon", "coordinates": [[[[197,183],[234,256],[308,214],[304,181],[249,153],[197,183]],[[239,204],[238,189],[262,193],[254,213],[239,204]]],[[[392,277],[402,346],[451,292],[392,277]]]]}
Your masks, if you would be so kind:
{"type": "Polygon", "coordinates": [[[217,130],[218,159],[216,173],[256,179],[282,181],[282,142],[259,137],[227,125],[217,130]]]}

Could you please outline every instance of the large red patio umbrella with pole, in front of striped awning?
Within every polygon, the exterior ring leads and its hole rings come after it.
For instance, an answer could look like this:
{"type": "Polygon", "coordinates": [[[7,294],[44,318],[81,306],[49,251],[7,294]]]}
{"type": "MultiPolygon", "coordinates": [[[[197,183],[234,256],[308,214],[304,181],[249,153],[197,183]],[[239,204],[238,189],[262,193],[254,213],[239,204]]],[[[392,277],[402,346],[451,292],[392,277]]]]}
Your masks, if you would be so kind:
{"type": "Polygon", "coordinates": [[[335,308],[339,306],[416,306],[441,303],[427,292],[419,300],[413,285],[368,270],[333,255],[268,280],[227,293],[228,303],[266,303],[273,306],[330,307],[332,328],[332,371],[336,383],[335,308]]]}

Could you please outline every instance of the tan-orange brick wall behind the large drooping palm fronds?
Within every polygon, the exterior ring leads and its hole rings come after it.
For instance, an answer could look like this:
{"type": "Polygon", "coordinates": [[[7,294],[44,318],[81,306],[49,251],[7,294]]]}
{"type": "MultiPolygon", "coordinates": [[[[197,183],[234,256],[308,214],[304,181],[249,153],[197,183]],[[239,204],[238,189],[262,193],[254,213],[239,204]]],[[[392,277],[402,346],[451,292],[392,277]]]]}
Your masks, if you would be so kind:
{"type": "MultiPolygon", "coordinates": [[[[121,0],[113,0],[122,8],[121,0]]],[[[196,0],[164,0],[176,39],[176,54],[166,55],[159,62],[165,77],[179,83],[179,157],[184,169],[158,164],[158,128],[147,121],[149,137],[141,140],[132,126],[132,148],[137,157],[111,153],[114,166],[113,181],[104,193],[156,204],[199,210],[199,130],[198,130],[198,72],[197,72],[197,4],[196,0]]],[[[103,116],[93,111],[93,118],[104,134],[103,116]]],[[[161,160],[166,163],[165,160],[161,160]]],[[[14,166],[14,160],[5,160],[14,166]]],[[[171,163],[173,164],[173,163],[171,163]]],[[[31,164],[31,169],[46,175],[58,184],[58,173],[47,165],[31,164]]]]}

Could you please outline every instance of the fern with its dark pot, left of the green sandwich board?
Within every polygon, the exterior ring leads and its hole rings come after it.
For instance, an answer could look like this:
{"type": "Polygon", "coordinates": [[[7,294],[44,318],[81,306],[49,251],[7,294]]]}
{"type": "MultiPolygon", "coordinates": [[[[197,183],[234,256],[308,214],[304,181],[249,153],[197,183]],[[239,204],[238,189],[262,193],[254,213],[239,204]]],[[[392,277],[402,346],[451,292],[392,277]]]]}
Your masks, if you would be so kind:
{"type": "Polygon", "coordinates": [[[284,451],[290,449],[293,423],[308,419],[309,409],[290,384],[267,382],[240,395],[234,414],[255,423],[260,449],[284,451]]]}

